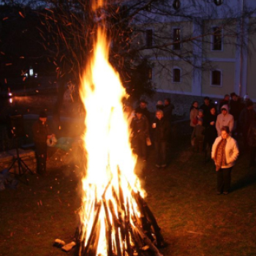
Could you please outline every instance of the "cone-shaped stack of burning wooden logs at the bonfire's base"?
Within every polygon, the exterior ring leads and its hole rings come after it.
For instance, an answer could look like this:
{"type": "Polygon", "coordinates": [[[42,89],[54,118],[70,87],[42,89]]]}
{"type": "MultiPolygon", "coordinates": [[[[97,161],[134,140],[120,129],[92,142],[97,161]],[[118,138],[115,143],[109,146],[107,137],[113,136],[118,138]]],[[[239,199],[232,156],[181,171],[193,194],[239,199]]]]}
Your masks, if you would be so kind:
{"type": "Polygon", "coordinates": [[[85,230],[78,225],[75,233],[77,244],[75,255],[99,256],[97,255],[99,213],[103,210],[105,212],[105,246],[108,254],[100,256],[162,256],[158,248],[165,246],[165,241],[154,214],[148,208],[140,192],[132,192],[129,200],[126,200],[127,203],[124,203],[124,194],[120,185],[118,193],[112,189],[112,195],[111,200],[106,200],[103,195],[102,200],[97,203],[94,208],[94,223],[91,230],[85,230]],[[137,205],[139,214],[135,214],[132,200],[137,205]],[[117,214],[114,206],[118,208],[117,214]],[[90,232],[86,242],[85,232],[90,232]]]}

